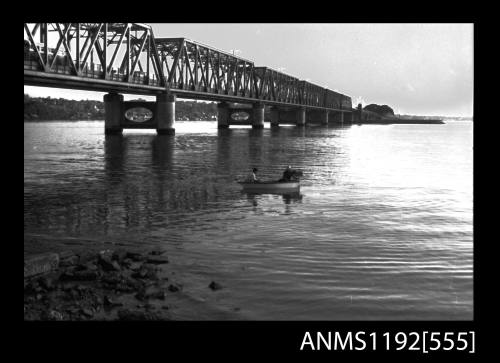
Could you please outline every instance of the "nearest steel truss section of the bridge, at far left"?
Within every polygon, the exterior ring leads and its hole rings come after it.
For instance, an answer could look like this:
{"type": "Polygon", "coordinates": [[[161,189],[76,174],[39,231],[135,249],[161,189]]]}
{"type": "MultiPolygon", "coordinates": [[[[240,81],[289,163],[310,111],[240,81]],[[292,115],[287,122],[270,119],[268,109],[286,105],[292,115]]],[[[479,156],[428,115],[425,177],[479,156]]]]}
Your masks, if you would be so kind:
{"type": "Polygon", "coordinates": [[[25,23],[25,69],[162,85],[151,27],[137,23],[25,23]],[[38,42],[37,42],[38,40],[38,42]]]}

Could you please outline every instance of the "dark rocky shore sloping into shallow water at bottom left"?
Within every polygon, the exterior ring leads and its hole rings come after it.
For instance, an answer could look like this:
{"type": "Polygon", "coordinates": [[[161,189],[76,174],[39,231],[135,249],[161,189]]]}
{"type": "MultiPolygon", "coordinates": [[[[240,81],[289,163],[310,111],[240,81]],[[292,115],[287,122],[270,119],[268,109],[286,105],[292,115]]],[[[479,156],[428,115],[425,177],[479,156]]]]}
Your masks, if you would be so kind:
{"type": "Polygon", "coordinates": [[[225,289],[161,250],[48,253],[25,257],[24,320],[240,320],[225,289]]]}

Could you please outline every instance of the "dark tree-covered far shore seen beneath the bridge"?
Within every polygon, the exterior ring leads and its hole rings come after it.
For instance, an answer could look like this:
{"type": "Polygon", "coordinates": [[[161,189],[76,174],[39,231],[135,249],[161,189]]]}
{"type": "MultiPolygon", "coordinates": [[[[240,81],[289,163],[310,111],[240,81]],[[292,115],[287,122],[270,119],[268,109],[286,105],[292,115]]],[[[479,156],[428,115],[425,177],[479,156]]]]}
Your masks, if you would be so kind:
{"type": "MultiPolygon", "coordinates": [[[[176,120],[215,120],[217,104],[177,101],[175,103],[176,120]]],[[[76,121],[104,120],[104,102],[92,100],[67,100],[64,98],[30,97],[24,95],[25,121],[76,121]]]]}

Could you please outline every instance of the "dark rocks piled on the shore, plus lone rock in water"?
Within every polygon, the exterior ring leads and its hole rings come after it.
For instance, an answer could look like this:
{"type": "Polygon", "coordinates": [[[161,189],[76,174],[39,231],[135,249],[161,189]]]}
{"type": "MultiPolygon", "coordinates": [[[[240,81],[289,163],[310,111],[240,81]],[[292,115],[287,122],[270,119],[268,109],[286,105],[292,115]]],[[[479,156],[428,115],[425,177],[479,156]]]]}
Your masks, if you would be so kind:
{"type": "MultiPolygon", "coordinates": [[[[175,320],[165,251],[43,254],[24,261],[24,320],[175,320]]],[[[207,289],[222,286],[211,281],[207,289]]]]}

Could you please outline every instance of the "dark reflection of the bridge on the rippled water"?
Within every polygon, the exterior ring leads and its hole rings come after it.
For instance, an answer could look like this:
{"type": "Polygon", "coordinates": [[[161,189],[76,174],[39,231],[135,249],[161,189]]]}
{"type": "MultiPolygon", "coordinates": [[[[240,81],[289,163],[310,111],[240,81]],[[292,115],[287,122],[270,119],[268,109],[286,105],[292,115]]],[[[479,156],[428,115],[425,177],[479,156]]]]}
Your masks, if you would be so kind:
{"type": "MultiPolygon", "coordinates": [[[[42,229],[58,226],[70,235],[112,234],[187,222],[206,227],[210,219],[230,224],[245,218],[244,211],[254,202],[260,210],[266,200],[281,205],[281,213],[293,213],[301,196],[241,194],[235,179],[245,177],[253,165],[265,178],[279,176],[289,155],[296,163],[308,160],[310,155],[299,153],[297,142],[290,138],[306,140],[314,132],[314,128],[281,128],[229,129],[212,136],[175,138],[106,135],[102,169],[89,170],[84,177],[61,171],[60,178],[71,182],[58,184],[53,193],[26,196],[25,208],[30,212],[25,223],[42,229]],[[280,151],[280,140],[293,148],[290,154],[280,151]],[[235,213],[238,210],[242,212],[235,213]]],[[[332,148],[326,158],[335,154],[332,148]]]]}

